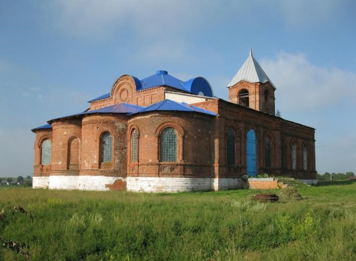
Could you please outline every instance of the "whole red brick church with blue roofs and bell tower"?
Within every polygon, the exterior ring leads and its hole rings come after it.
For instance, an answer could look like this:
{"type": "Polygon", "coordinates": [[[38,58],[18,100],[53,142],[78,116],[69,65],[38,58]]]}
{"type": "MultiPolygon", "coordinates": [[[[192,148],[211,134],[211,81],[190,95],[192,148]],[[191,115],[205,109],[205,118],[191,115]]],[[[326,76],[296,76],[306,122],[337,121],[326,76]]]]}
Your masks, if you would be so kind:
{"type": "Polygon", "coordinates": [[[276,116],[251,50],[227,87],[224,101],[203,77],[120,76],[89,109],[32,129],[33,187],[222,190],[263,173],[314,183],[314,128],[276,116]]]}

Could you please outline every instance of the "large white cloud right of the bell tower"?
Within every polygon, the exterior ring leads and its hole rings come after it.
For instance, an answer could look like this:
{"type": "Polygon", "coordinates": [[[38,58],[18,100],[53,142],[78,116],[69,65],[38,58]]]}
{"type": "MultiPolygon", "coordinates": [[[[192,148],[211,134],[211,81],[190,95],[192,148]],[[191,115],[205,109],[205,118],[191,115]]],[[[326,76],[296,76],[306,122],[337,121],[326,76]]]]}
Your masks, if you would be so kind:
{"type": "Polygon", "coordinates": [[[276,59],[261,59],[260,64],[277,87],[276,103],[281,108],[320,109],[356,97],[351,84],[356,73],[316,66],[305,54],[281,51],[276,59]]]}

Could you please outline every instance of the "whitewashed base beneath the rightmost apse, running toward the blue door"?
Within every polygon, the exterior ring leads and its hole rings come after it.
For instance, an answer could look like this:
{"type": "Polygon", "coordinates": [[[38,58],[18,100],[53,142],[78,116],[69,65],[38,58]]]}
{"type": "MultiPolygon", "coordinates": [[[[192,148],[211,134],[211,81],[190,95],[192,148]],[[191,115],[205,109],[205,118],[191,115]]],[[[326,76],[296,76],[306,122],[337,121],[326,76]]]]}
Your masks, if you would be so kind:
{"type": "Polygon", "coordinates": [[[163,178],[163,177],[128,177],[128,191],[142,192],[183,192],[211,191],[241,188],[238,178],[163,178]]]}

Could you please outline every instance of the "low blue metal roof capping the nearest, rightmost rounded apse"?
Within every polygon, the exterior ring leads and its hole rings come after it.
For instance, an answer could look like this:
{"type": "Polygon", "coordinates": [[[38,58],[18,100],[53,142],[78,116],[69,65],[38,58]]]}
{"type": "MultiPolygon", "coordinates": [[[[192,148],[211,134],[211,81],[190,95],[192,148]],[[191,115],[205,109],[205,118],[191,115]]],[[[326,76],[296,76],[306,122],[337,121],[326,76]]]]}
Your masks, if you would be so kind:
{"type": "Polygon", "coordinates": [[[152,104],[150,106],[144,107],[136,112],[131,113],[130,115],[142,112],[151,112],[151,111],[182,111],[182,112],[199,112],[211,116],[216,116],[215,112],[207,111],[199,107],[191,106],[185,103],[177,103],[171,100],[163,100],[158,103],[152,104]]]}

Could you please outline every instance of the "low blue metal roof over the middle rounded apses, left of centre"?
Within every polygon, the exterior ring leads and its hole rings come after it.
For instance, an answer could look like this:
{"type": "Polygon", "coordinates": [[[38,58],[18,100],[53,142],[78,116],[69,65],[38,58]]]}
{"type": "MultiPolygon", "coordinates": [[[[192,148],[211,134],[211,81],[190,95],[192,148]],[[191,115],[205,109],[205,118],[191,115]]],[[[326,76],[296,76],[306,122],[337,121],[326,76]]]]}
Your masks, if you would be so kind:
{"type": "Polygon", "coordinates": [[[95,113],[126,113],[126,114],[130,114],[130,113],[136,112],[142,108],[144,108],[144,107],[133,105],[133,104],[121,103],[121,104],[116,104],[116,105],[108,106],[105,108],[101,108],[98,110],[84,111],[84,112],[80,112],[80,113],[76,113],[76,114],[72,114],[72,115],[68,115],[68,116],[51,119],[48,122],[52,122],[52,121],[58,120],[58,119],[72,118],[72,117],[77,117],[77,116],[81,116],[81,115],[95,114],[95,113]]]}

